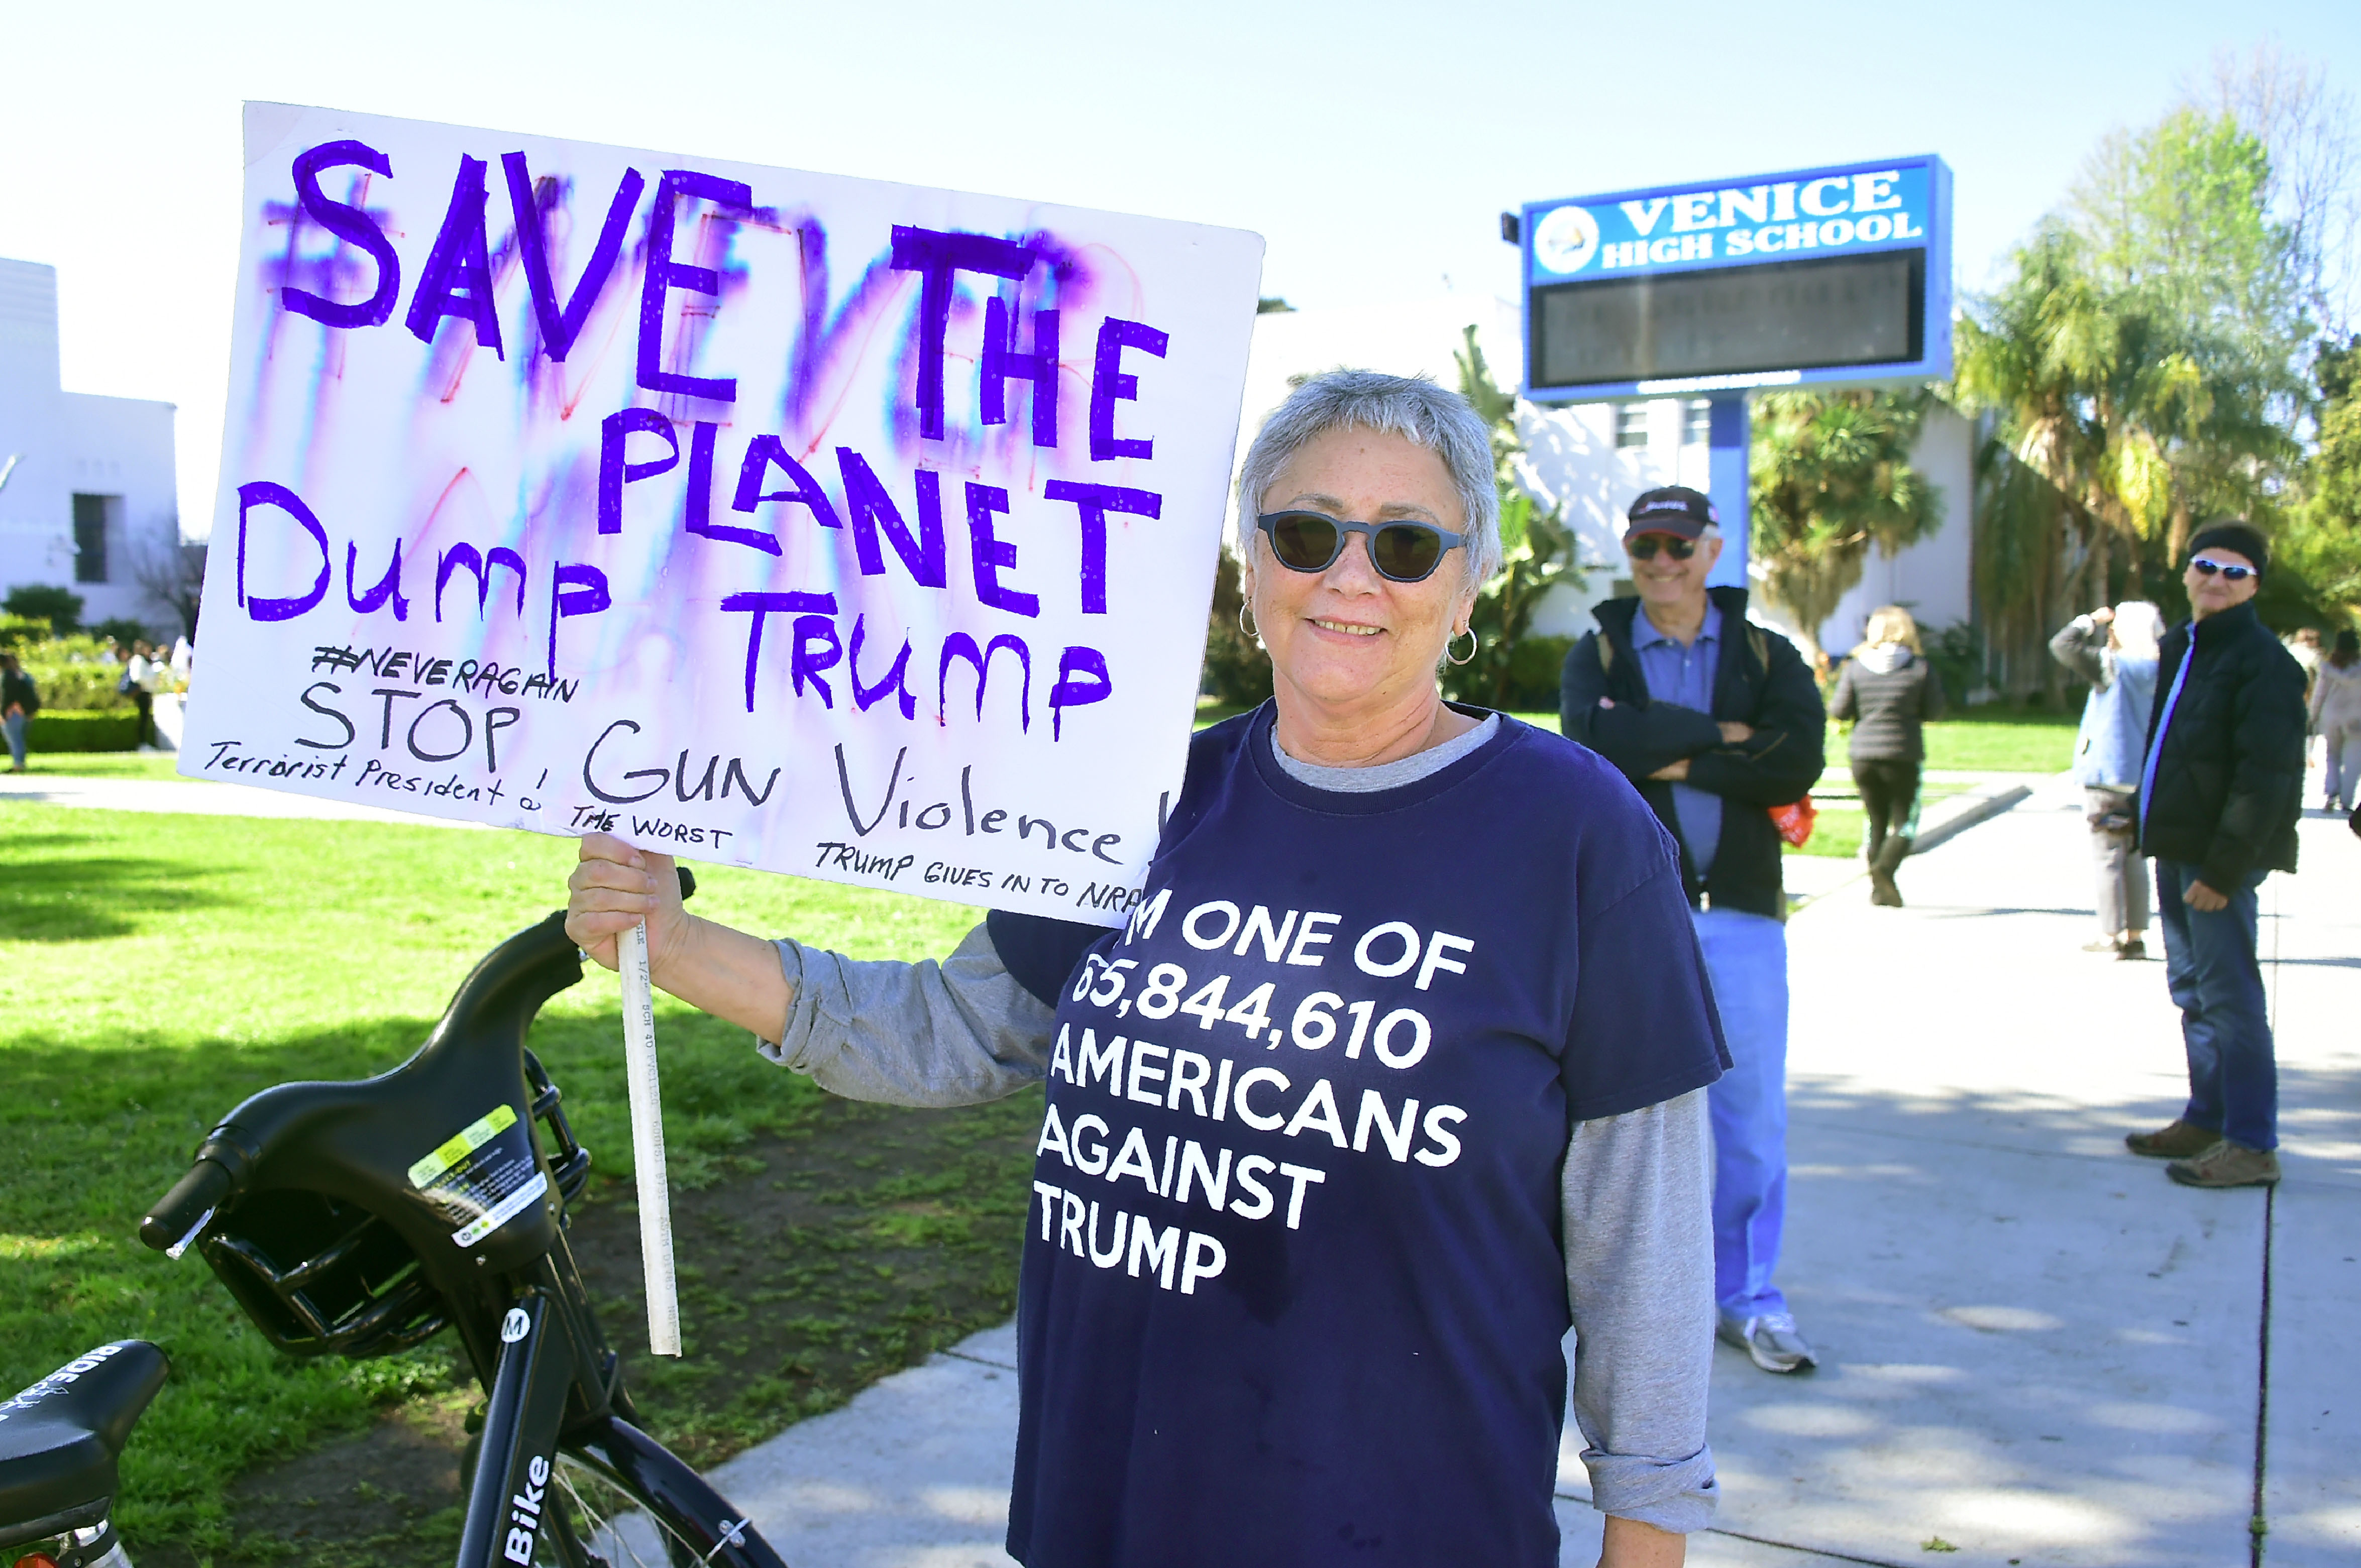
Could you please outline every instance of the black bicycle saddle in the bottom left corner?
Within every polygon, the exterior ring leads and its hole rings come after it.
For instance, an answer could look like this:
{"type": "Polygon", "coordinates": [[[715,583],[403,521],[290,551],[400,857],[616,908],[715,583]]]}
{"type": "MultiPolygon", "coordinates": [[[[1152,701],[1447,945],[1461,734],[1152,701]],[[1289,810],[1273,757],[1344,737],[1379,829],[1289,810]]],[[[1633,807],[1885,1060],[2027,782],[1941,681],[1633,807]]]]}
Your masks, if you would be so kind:
{"type": "Polygon", "coordinates": [[[106,1518],[116,1457],[168,1365],[149,1341],[118,1339],[0,1405],[0,1549],[106,1518]]]}

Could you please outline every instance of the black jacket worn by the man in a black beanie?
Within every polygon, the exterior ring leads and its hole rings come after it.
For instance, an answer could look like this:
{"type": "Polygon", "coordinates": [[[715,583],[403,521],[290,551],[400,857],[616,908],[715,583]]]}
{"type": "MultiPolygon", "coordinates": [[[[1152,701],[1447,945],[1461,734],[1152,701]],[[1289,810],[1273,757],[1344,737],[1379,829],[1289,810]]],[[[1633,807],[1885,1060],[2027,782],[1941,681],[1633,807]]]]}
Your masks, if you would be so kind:
{"type": "Polygon", "coordinates": [[[2304,666],[2252,605],[2174,626],[2160,652],[2146,746],[2156,786],[2139,850],[2198,867],[2215,893],[2234,893],[2252,871],[2293,871],[2309,727],[2304,666]],[[2196,664],[2158,737],[2182,659],[2196,664]]]}

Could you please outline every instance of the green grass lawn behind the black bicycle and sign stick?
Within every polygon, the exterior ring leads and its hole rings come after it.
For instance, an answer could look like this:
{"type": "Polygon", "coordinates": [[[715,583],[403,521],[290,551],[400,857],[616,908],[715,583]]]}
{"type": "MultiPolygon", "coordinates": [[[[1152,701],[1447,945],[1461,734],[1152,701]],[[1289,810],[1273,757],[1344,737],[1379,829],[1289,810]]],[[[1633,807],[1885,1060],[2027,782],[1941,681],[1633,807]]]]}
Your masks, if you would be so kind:
{"type": "MultiPolygon", "coordinates": [[[[19,1389],[104,1339],[163,1344],[172,1379],[125,1457],[118,1521],[139,1561],[153,1542],[208,1561],[224,1547],[236,1476],[392,1405],[449,1407],[472,1393],[449,1337],[371,1363],[276,1355],[194,1254],[172,1263],[139,1247],[139,1216],[248,1093],[404,1060],[477,954],[562,902],[574,845],[42,805],[0,805],[0,1129],[19,1150],[0,1183],[0,1386],[19,1389]]],[[[975,921],[902,895],[699,874],[699,912],[862,956],[942,954],[975,921]]],[[[694,1211],[730,1183],[760,1188],[765,1202],[803,1207],[753,1240],[779,1247],[793,1223],[819,1237],[767,1280],[734,1275],[734,1261],[713,1256],[720,1247],[682,1256],[689,1355],[668,1367],[633,1355],[645,1318],[621,1183],[630,1136],[616,985],[593,968],[550,1001],[534,1046],[597,1159],[586,1219],[621,1249],[593,1294],[616,1308],[607,1327],[649,1424],[685,1436],[682,1452],[718,1459],[1006,1315],[1036,1096],[975,1112],[869,1112],[966,1117],[944,1124],[956,1148],[928,1155],[933,1176],[900,1181],[892,1136],[862,1143],[862,1124],[848,1138],[831,1110],[841,1103],[756,1058],[744,1032],[659,997],[659,1039],[682,1202],[694,1211]],[[796,1169],[793,1141],[822,1126],[845,1157],[796,1169]],[[763,1150],[777,1164],[767,1176],[763,1150]],[[831,1209],[845,1188],[862,1188],[864,1202],[831,1209]],[[881,1263],[885,1247],[902,1252],[881,1263]],[[970,1254],[985,1261],[944,1296],[963,1304],[956,1311],[928,1306],[890,1266],[970,1254]]],[[[739,1221],[699,1223],[715,1235],[739,1221]]],[[[411,1556],[432,1554],[401,1561],[411,1556]]]]}

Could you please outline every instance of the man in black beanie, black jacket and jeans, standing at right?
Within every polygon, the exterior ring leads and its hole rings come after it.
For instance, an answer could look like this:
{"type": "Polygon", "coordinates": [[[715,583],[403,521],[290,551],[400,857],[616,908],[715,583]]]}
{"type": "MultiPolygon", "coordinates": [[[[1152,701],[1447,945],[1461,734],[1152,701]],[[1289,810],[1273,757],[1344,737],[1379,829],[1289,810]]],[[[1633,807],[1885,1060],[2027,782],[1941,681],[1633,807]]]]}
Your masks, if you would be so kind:
{"type": "Polygon", "coordinates": [[[2156,857],[2165,985],[2182,1008],[2189,1105],[2134,1155],[2191,1188],[2278,1181],[2278,1063],[2255,890],[2295,869],[2304,808],[2304,668],[2255,619],[2271,545],[2245,522],[2189,541],[2189,621],[2165,633],[2139,775],[2139,848],[2156,857]]]}

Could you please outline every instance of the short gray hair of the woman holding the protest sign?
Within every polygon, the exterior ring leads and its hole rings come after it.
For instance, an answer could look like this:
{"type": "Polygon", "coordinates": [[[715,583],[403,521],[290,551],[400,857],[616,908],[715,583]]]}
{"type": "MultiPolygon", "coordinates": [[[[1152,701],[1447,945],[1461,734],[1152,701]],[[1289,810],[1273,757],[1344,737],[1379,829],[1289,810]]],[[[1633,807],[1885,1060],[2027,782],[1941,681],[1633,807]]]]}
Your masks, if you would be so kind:
{"type": "MultiPolygon", "coordinates": [[[[1346,427],[1405,437],[1443,460],[1459,491],[1469,536],[1466,579],[1480,586],[1499,571],[1499,489],[1492,482],[1492,432],[1469,399],[1424,375],[1327,371],[1308,378],[1270,411],[1237,475],[1237,543],[1251,560],[1254,517],[1280,470],[1315,437],[1346,427]]],[[[1367,522],[1367,520],[1358,520],[1367,522]]]]}

